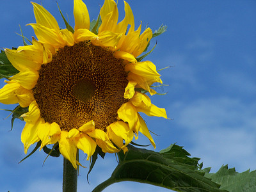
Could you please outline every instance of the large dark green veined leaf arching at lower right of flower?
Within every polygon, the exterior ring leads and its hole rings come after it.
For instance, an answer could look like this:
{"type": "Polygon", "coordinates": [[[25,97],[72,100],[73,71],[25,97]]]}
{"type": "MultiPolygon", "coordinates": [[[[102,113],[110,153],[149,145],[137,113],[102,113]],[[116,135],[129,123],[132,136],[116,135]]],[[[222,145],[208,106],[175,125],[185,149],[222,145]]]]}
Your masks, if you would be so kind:
{"type": "Polygon", "coordinates": [[[120,181],[136,181],[174,191],[189,192],[224,192],[220,185],[204,177],[204,172],[197,170],[198,158],[190,158],[189,153],[177,145],[154,152],[128,146],[125,154],[118,153],[119,163],[111,177],[93,191],[120,181]]]}

